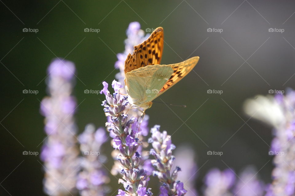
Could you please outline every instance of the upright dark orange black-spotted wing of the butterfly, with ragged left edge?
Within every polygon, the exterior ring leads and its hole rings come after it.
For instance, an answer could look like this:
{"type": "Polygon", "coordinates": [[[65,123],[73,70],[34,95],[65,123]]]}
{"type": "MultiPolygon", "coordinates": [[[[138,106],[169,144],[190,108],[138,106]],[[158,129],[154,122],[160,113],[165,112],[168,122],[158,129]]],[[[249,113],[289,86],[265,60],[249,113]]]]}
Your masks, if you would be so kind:
{"type": "Polygon", "coordinates": [[[147,65],[160,64],[164,46],[164,30],[156,28],[143,43],[134,46],[133,54],[129,54],[125,61],[125,74],[147,65]]]}

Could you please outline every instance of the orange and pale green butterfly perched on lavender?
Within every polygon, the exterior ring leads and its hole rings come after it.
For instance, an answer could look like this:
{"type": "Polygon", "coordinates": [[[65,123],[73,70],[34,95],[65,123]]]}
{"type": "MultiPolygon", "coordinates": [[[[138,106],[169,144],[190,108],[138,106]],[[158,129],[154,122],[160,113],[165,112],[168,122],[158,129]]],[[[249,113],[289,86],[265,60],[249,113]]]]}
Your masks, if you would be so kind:
{"type": "Polygon", "coordinates": [[[125,61],[125,88],[130,104],[151,107],[152,101],[186,76],[198,63],[192,57],[180,63],[160,65],[164,45],[164,30],[156,28],[143,43],[134,46],[125,61]]]}

